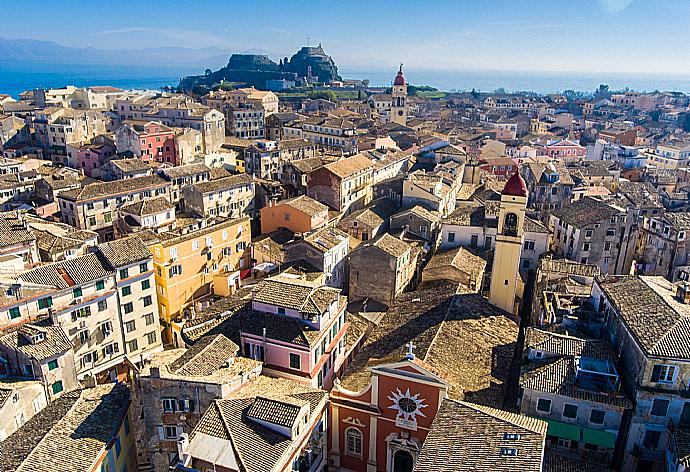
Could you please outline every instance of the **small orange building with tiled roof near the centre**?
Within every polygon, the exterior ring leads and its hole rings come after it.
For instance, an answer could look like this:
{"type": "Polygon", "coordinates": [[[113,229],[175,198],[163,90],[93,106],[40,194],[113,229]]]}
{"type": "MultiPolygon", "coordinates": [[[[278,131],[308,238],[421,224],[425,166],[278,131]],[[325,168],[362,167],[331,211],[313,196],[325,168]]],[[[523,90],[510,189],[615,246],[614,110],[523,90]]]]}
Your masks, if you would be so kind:
{"type": "Polygon", "coordinates": [[[261,234],[287,228],[293,233],[307,233],[328,223],[328,207],[301,195],[261,209],[261,234]]]}

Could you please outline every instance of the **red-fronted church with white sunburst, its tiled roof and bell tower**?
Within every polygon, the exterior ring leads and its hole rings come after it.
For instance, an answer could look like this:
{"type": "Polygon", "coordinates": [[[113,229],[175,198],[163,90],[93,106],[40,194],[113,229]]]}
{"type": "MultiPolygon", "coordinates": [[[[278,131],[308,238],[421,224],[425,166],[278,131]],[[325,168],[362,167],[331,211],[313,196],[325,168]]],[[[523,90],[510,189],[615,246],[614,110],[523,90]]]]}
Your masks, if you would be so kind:
{"type": "MultiPolygon", "coordinates": [[[[375,320],[330,394],[332,470],[412,472],[448,402],[460,402],[450,408],[460,415],[452,422],[466,420],[468,428],[476,422],[473,415],[487,421],[511,415],[503,410],[520,324],[515,298],[526,199],[524,180],[515,174],[501,196],[488,300],[449,280],[423,282],[375,320]]],[[[512,416],[511,427],[521,427],[523,417],[512,416]]],[[[527,428],[524,437],[533,435],[536,452],[515,470],[541,470],[545,428],[527,428]]],[[[505,445],[494,449],[487,460],[504,460],[505,445]]]]}

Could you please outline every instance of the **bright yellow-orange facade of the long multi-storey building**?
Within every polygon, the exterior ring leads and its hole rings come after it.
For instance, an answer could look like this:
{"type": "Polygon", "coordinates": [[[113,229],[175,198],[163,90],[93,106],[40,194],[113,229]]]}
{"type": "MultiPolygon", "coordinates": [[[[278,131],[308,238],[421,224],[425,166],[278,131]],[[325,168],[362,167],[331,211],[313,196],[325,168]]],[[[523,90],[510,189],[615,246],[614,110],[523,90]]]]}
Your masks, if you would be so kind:
{"type": "Polygon", "coordinates": [[[158,313],[168,342],[175,341],[172,321],[193,317],[195,302],[232,293],[240,286],[240,270],[249,267],[249,217],[196,225],[163,233],[151,246],[158,313]]]}

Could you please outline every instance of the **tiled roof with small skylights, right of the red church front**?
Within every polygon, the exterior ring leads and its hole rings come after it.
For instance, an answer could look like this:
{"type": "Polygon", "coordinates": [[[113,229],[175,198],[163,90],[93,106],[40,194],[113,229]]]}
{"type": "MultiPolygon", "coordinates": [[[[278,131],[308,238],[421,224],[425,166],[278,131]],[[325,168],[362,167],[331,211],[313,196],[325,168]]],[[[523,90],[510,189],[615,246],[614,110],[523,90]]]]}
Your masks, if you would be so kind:
{"type": "Polygon", "coordinates": [[[541,472],[546,429],[535,418],[444,400],[414,470],[541,472]],[[517,455],[503,454],[504,448],[517,455]]]}

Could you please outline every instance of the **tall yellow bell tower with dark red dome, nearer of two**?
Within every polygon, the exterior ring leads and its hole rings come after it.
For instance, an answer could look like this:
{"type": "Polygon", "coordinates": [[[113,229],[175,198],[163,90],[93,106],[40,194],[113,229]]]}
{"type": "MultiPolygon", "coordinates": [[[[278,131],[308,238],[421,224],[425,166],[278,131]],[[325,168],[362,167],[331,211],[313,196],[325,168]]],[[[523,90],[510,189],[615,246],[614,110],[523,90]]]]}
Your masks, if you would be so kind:
{"type": "Polygon", "coordinates": [[[516,311],[515,292],[520,271],[526,208],[527,185],[520,173],[515,172],[501,192],[489,295],[492,304],[510,313],[516,311]]]}

